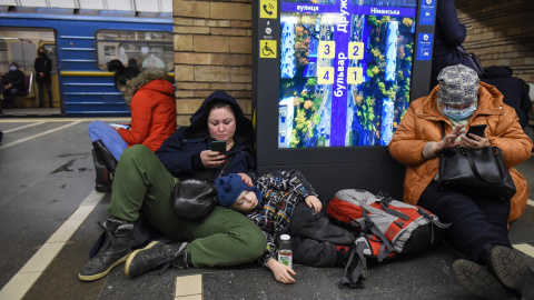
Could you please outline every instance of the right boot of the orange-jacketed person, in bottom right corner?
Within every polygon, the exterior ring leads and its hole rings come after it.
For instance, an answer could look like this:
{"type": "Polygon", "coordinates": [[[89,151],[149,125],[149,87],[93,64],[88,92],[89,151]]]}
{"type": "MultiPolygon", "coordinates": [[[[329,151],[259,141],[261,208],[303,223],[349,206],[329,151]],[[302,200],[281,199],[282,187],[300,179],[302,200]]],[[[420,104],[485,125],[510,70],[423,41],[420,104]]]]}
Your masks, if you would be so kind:
{"type": "Polygon", "coordinates": [[[505,287],[517,290],[523,299],[534,300],[534,272],[518,251],[495,246],[490,251],[488,266],[505,287]]]}

